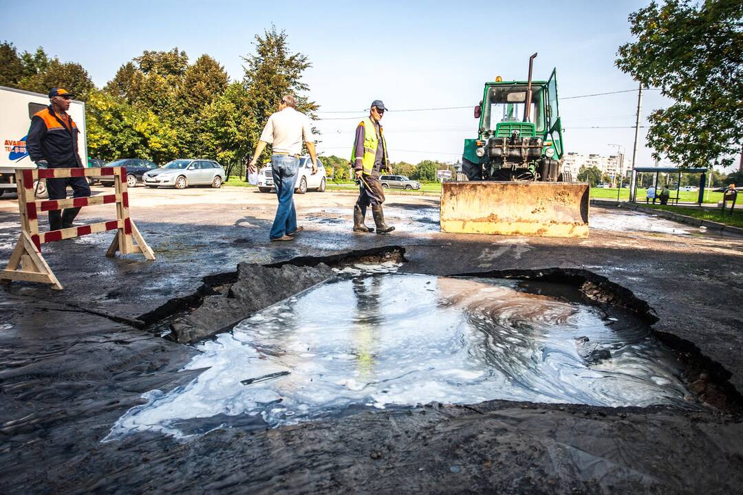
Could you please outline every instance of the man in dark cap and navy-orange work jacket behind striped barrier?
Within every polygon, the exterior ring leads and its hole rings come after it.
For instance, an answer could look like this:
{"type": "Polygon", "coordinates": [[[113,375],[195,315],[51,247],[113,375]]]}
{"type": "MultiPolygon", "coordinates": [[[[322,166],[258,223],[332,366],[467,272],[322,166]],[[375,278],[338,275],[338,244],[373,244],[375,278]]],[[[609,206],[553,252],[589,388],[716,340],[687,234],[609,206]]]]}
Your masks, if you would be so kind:
{"type": "MultiPolygon", "coordinates": [[[[32,162],[39,168],[84,167],[77,151],[80,131],[72,117],[67,114],[70,99],[74,96],[63,88],[51,88],[50,105],[31,117],[31,126],[26,138],[26,149],[32,162]]],[[[90,186],[85,177],[47,179],[50,200],[64,200],[67,186],[72,187],[73,197],[88,197],[90,186]]],[[[49,211],[49,229],[69,229],[80,208],[49,211]]]]}

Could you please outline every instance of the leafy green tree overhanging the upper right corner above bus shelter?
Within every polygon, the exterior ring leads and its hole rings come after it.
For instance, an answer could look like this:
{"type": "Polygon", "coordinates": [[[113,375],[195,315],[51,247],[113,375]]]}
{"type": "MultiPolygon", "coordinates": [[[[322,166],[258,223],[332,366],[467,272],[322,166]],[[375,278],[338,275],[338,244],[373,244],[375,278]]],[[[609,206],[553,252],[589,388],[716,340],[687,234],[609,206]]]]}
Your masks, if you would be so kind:
{"type": "Polygon", "coordinates": [[[733,163],[743,142],[743,2],[653,1],[629,16],[636,42],[616,65],[675,100],[650,117],[653,157],[684,166],[733,163]]]}

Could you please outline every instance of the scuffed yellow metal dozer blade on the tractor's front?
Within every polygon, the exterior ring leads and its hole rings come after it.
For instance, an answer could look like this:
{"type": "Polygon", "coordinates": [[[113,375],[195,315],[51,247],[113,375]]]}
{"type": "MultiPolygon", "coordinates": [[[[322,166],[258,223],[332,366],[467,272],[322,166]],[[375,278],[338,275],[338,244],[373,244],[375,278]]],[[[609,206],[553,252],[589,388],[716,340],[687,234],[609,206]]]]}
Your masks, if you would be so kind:
{"type": "Polygon", "coordinates": [[[444,182],[441,231],[588,237],[588,183],[444,182]]]}

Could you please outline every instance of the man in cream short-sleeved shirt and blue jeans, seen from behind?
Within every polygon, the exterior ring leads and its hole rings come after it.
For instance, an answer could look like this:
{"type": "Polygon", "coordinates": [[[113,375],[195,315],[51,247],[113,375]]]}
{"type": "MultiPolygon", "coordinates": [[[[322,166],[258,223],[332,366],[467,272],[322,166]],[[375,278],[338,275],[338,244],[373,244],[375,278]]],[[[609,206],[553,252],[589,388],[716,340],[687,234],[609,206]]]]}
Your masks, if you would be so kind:
{"type": "Polygon", "coordinates": [[[305,114],[296,110],[294,96],[285,95],[279,100],[279,111],[272,114],[266,122],[263,133],[253,153],[253,160],[248,166],[249,173],[256,172],[258,157],[267,144],[271,145],[271,171],[273,184],[279,206],[271,226],[270,240],[293,240],[293,235],[302,232],[303,227],[296,225],[296,208],[294,207],[294,186],[299,173],[299,154],[302,153],[302,141],[307,146],[312,160],[312,174],[317,174],[317,155],[312,140],[310,120],[305,114]]]}

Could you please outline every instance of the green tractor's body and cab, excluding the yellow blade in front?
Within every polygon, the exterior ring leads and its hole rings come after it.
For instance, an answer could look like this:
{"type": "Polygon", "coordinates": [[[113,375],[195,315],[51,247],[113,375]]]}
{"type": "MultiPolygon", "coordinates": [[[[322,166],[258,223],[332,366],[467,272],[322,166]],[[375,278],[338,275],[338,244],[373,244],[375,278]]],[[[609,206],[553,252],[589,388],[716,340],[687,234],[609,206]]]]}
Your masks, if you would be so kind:
{"type": "Polygon", "coordinates": [[[462,171],[469,180],[570,182],[560,172],[562,125],[557,105],[557,74],[533,81],[534,53],[527,81],[486,82],[475,117],[478,137],[464,140],[462,171]]]}

